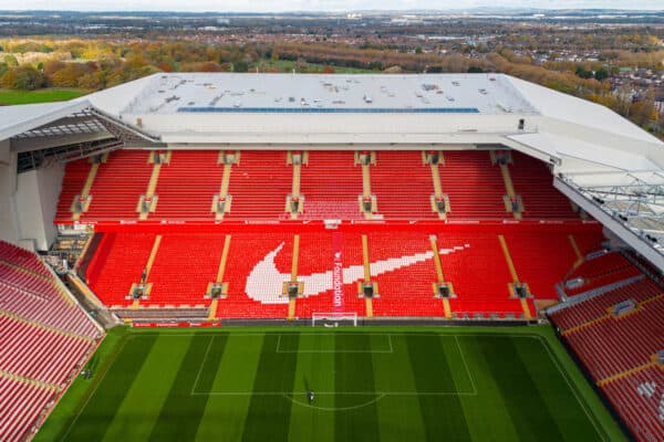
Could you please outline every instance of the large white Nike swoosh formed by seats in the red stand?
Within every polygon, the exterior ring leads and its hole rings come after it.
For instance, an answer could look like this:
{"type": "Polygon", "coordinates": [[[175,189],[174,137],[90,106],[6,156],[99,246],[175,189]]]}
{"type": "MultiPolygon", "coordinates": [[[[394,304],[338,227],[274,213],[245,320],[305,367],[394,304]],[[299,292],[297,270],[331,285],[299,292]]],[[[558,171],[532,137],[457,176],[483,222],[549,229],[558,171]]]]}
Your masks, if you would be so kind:
{"type": "MultiPolygon", "coordinates": [[[[442,249],[440,254],[448,254],[456,251],[464,250],[468,246],[455,246],[453,249],[442,249]]],[[[281,273],[274,264],[274,257],[279,254],[283,243],[279,244],[277,249],[268,253],[249,273],[247,277],[247,284],[245,285],[245,293],[255,299],[260,301],[263,304],[288,304],[288,296],[282,296],[281,291],[284,281],[290,281],[290,273],[281,273]]],[[[414,255],[402,256],[402,257],[390,257],[383,261],[376,261],[370,263],[370,270],[372,276],[378,276],[383,273],[392,272],[402,267],[430,260],[434,257],[434,253],[428,251],[424,253],[416,253],[414,255]]],[[[363,265],[350,265],[342,270],[343,284],[352,284],[364,277],[363,265]]],[[[304,283],[304,296],[319,295],[321,293],[333,290],[332,283],[332,271],[323,273],[313,273],[311,275],[298,275],[298,281],[304,283]]]]}

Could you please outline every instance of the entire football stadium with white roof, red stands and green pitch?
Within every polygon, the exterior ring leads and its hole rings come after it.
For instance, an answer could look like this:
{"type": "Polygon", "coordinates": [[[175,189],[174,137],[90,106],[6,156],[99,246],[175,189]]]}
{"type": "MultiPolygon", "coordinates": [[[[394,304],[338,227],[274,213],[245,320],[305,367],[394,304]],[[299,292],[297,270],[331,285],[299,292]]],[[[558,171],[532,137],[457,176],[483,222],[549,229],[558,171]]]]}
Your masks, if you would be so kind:
{"type": "Polygon", "coordinates": [[[664,440],[664,144],[502,74],[0,107],[1,441],[664,440]]]}

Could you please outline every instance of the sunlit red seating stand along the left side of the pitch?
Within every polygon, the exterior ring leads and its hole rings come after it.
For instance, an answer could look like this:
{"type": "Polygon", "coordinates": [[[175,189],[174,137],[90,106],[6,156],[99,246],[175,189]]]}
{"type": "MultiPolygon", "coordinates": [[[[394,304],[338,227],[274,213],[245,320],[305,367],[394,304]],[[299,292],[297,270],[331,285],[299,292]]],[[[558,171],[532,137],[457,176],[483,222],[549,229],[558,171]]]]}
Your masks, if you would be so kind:
{"type": "Polygon", "coordinates": [[[0,440],[22,441],[101,338],[39,257],[0,241],[0,440]]]}

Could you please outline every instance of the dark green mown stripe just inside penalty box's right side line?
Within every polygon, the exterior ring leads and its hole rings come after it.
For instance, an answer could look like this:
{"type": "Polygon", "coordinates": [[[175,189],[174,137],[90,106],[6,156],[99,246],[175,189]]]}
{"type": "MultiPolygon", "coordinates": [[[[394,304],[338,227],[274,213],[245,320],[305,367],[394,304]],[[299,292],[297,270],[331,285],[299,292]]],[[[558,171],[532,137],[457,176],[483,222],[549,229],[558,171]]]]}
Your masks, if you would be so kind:
{"type": "MultiPolygon", "coordinates": [[[[440,337],[412,334],[407,337],[411,367],[418,392],[455,392],[456,386],[440,337]]],[[[470,441],[466,415],[457,394],[421,394],[419,409],[427,441],[470,441]]]]}

